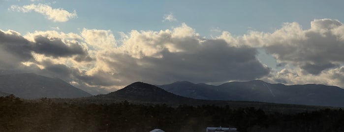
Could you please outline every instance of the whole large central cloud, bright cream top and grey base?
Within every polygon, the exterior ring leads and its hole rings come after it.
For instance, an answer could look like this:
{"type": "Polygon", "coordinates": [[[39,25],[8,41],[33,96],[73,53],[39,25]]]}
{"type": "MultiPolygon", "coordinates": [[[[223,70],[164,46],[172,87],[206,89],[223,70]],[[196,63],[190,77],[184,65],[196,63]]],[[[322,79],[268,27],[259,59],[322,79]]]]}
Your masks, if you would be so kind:
{"type": "Polygon", "coordinates": [[[233,47],[222,39],[203,39],[186,24],[172,31],[133,30],[122,42],[117,49],[97,55],[97,61],[111,66],[111,74],[102,73],[108,76],[102,81],[115,78],[118,85],[133,81],[222,82],[256,79],[270,72],[256,59],[256,49],[233,47]]]}

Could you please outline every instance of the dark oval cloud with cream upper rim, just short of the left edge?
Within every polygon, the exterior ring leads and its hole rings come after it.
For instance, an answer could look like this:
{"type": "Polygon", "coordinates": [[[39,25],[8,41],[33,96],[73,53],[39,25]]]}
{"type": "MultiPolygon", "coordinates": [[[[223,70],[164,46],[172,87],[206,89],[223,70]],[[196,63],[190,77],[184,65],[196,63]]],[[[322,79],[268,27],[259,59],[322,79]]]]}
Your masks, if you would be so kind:
{"type": "Polygon", "coordinates": [[[46,31],[28,33],[24,36],[34,42],[32,51],[43,54],[46,57],[68,58],[73,57],[78,62],[89,62],[92,58],[89,55],[88,46],[83,38],[75,33],[63,33],[56,31],[46,31]]]}

